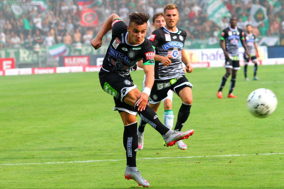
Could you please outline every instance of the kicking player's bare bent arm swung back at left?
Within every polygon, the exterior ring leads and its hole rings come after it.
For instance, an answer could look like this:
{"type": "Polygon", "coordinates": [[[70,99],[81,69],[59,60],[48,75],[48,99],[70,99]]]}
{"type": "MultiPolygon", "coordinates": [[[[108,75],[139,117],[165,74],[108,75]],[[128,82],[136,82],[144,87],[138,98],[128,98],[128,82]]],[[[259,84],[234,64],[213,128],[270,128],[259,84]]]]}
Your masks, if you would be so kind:
{"type": "Polygon", "coordinates": [[[106,33],[109,32],[109,30],[111,30],[111,23],[116,18],[120,19],[117,14],[112,13],[111,15],[109,15],[97,36],[91,41],[91,44],[95,48],[95,50],[102,46],[102,38],[104,37],[104,35],[106,35],[106,33]]]}

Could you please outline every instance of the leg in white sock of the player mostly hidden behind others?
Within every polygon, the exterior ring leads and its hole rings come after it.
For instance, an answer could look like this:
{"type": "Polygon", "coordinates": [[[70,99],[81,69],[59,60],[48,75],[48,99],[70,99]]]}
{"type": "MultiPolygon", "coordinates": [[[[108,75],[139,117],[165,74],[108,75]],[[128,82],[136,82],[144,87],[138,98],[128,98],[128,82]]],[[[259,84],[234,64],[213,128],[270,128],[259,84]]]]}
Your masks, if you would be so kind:
{"type": "Polygon", "coordinates": [[[169,129],[173,128],[173,110],[172,110],[172,101],[173,101],[173,91],[168,90],[168,96],[162,101],[164,103],[164,125],[169,129]]]}

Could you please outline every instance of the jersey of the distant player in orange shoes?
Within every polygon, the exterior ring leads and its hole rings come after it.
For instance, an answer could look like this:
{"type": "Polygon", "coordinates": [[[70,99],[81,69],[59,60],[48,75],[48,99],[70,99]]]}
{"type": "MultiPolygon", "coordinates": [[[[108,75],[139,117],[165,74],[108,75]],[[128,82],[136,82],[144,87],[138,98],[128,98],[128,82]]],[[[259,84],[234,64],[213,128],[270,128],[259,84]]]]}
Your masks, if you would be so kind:
{"type": "Polygon", "coordinates": [[[244,32],[239,28],[232,29],[230,26],[221,33],[221,40],[226,42],[226,51],[231,56],[239,55],[239,40],[244,40],[244,32]]]}

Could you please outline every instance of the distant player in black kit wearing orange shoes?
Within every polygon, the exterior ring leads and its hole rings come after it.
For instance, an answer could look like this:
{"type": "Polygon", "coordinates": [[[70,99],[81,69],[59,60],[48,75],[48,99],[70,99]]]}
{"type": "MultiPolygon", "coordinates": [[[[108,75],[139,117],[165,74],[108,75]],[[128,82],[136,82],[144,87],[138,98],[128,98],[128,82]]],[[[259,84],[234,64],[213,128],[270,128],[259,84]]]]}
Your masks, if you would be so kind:
{"type": "Polygon", "coordinates": [[[251,58],[251,55],[248,53],[246,44],[244,42],[244,32],[243,30],[237,28],[236,24],[237,24],[237,17],[232,16],[230,18],[230,26],[224,29],[221,33],[220,46],[223,49],[225,55],[226,74],[223,76],[221,81],[221,86],[219,88],[219,91],[217,92],[218,98],[223,98],[222,90],[231,73],[232,73],[232,79],[231,79],[228,98],[237,98],[237,96],[233,95],[232,91],[234,90],[235,87],[237,71],[241,69],[239,66],[239,40],[241,40],[245,54],[248,55],[249,59],[251,58]],[[224,41],[226,46],[224,45],[224,41]]]}

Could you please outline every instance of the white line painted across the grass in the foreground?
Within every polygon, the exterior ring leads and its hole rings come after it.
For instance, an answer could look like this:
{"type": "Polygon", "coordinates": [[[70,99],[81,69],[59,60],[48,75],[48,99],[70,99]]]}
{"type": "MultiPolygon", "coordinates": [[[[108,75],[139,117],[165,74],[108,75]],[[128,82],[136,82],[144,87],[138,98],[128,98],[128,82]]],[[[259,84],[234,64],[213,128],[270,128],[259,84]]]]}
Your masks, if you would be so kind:
{"type": "MultiPolygon", "coordinates": [[[[233,157],[233,156],[268,156],[279,155],[284,153],[267,153],[267,154],[230,154],[230,155],[216,155],[216,156],[186,156],[186,157],[159,157],[159,158],[139,158],[136,160],[151,160],[151,159],[181,159],[181,158],[205,158],[205,157],[233,157]]],[[[106,160],[88,160],[88,161],[62,161],[62,162],[45,162],[45,163],[6,163],[4,165],[42,165],[42,164],[54,164],[54,163],[89,163],[89,162],[102,162],[102,161],[125,161],[126,159],[106,159],[106,160]]]]}

